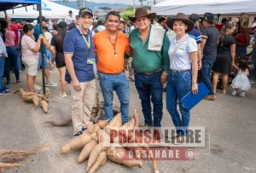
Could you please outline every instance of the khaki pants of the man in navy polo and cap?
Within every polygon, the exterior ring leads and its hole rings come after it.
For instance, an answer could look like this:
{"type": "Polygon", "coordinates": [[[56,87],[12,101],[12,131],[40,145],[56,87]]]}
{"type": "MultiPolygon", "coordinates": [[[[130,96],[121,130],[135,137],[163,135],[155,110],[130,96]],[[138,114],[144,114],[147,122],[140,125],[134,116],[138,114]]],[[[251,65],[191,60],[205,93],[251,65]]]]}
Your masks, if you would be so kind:
{"type": "Polygon", "coordinates": [[[77,134],[90,122],[91,110],[95,101],[96,82],[95,79],[80,83],[81,90],[77,91],[71,86],[73,134],[77,134]]]}

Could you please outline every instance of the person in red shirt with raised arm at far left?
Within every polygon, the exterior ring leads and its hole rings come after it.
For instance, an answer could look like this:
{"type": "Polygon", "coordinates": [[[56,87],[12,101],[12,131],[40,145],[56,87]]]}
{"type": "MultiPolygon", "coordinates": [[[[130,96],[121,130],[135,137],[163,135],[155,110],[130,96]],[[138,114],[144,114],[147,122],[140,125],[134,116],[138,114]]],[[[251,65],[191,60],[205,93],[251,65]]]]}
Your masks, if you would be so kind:
{"type": "Polygon", "coordinates": [[[5,20],[9,22],[9,28],[11,31],[15,32],[15,49],[17,51],[17,63],[19,70],[22,70],[21,68],[21,59],[20,59],[20,37],[19,37],[19,29],[23,29],[23,26],[17,25],[15,21],[12,22],[11,18],[8,16],[6,11],[4,11],[5,14],[5,20]]]}

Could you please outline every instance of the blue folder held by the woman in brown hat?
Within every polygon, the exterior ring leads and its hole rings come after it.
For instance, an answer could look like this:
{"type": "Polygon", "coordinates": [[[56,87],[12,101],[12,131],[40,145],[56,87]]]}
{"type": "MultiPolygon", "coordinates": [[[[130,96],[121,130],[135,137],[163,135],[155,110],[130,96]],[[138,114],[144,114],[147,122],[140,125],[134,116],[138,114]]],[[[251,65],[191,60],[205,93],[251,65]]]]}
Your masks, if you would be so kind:
{"type": "Polygon", "coordinates": [[[207,86],[203,82],[201,82],[201,84],[198,84],[198,93],[196,95],[190,91],[187,95],[183,96],[180,102],[183,107],[190,110],[201,100],[203,100],[209,93],[210,90],[207,89],[207,86]]]}

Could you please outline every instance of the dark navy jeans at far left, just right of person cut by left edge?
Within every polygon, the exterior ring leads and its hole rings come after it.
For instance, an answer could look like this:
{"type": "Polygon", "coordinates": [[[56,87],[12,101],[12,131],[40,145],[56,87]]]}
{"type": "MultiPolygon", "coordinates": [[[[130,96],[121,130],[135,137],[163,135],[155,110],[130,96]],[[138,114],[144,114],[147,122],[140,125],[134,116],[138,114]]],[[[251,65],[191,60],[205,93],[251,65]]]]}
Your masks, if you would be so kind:
{"type": "Polygon", "coordinates": [[[9,70],[10,70],[10,61],[12,61],[12,66],[15,72],[15,78],[16,80],[20,80],[20,72],[18,67],[18,61],[17,61],[17,50],[15,49],[15,46],[11,46],[6,48],[8,57],[5,57],[5,63],[4,63],[4,76],[6,77],[7,82],[10,81],[9,77],[9,70]]]}

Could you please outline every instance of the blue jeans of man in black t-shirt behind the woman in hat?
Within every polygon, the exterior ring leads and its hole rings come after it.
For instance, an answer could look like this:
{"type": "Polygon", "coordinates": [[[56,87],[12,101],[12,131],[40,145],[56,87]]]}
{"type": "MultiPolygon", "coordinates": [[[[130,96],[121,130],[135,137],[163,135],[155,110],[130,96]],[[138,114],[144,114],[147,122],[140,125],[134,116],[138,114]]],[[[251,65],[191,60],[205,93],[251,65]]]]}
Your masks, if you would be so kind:
{"type": "Polygon", "coordinates": [[[213,60],[201,60],[201,80],[207,86],[207,89],[210,90],[209,95],[215,95],[212,82],[211,82],[211,72],[212,66],[216,59],[213,60]]]}

